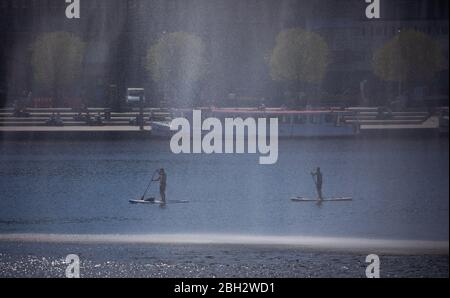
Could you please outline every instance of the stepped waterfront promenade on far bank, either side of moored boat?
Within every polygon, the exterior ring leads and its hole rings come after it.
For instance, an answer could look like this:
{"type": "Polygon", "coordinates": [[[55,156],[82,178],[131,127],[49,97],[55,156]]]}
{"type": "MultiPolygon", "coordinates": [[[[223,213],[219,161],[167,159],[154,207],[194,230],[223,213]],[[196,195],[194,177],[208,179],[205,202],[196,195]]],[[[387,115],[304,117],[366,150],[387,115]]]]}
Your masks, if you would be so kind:
{"type": "MultiPolygon", "coordinates": [[[[0,109],[0,135],[4,138],[15,136],[38,137],[43,135],[108,135],[108,136],[149,136],[151,135],[151,121],[166,121],[171,117],[168,109],[144,109],[143,129],[138,125],[139,110],[126,112],[111,112],[106,108],[89,108],[91,122],[81,118],[80,114],[70,108],[60,109],[27,109],[25,115],[17,115],[12,108],[0,109]],[[48,120],[57,115],[62,125],[49,125],[48,120]],[[95,119],[101,119],[95,122],[95,119]]],[[[270,109],[267,110],[270,113],[270,109]]],[[[383,133],[434,133],[439,132],[440,122],[437,114],[430,114],[425,110],[409,110],[392,112],[390,117],[380,119],[377,108],[347,108],[350,113],[345,116],[346,123],[358,126],[360,135],[383,133]]]]}

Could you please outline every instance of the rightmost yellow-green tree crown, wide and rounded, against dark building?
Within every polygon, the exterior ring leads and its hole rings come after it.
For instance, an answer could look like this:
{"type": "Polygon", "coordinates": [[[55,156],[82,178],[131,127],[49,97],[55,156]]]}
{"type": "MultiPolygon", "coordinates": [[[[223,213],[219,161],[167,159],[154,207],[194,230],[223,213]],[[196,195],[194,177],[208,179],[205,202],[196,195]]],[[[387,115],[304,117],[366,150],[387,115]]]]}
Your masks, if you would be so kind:
{"type": "Polygon", "coordinates": [[[374,72],[382,80],[402,84],[426,82],[445,68],[445,59],[438,43],[415,30],[397,34],[374,53],[374,72]]]}

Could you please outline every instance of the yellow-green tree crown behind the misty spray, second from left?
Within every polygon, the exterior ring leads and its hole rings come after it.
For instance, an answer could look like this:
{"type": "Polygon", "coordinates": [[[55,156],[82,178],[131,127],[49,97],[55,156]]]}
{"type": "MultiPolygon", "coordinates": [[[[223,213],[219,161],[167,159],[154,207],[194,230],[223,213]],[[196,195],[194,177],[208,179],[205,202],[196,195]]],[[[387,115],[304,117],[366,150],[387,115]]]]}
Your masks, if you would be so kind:
{"type": "Polygon", "coordinates": [[[165,34],[148,50],[146,69],[166,99],[189,105],[208,73],[205,45],[194,34],[165,34]]]}

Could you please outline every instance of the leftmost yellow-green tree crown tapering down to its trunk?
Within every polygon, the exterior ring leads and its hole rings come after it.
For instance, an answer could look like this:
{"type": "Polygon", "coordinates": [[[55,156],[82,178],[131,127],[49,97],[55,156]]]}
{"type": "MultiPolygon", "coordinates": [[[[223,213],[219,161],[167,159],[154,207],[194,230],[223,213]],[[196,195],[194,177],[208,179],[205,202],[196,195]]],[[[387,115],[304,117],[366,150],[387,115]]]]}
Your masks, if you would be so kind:
{"type": "Polygon", "coordinates": [[[34,82],[52,93],[54,105],[79,79],[85,47],[68,32],[44,33],[31,45],[34,82]]]}

